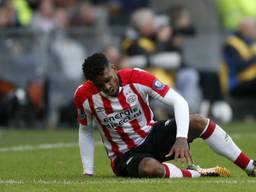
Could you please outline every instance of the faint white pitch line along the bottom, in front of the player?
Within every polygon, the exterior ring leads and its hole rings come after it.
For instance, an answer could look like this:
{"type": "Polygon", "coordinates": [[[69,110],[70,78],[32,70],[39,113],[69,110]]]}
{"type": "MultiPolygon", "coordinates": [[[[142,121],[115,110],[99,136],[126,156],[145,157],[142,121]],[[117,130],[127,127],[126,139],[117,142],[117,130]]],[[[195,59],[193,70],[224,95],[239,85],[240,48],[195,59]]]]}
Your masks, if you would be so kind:
{"type": "MultiPolygon", "coordinates": [[[[173,183],[177,179],[164,179],[164,180],[155,180],[155,179],[97,179],[97,180],[85,180],[85,181],[73,181],[73,180],[32,180],[32,181],[23,181],[23,180],[0,180],[0,185],[24,185],[24,184],[39,184],[39,185],[81,185],[81,184],[92,184],[92,185],[104,185],[104,184],[164,184],[164,183],[173,183]]],[[[256,180],[247,179],[247,180],[238,180],[232,178],[225,179],[192,179],[186,180],[187,183],[191,184],[228,184],[228,185],[241,185],[241,184],[256,184],[256,180]]]]}

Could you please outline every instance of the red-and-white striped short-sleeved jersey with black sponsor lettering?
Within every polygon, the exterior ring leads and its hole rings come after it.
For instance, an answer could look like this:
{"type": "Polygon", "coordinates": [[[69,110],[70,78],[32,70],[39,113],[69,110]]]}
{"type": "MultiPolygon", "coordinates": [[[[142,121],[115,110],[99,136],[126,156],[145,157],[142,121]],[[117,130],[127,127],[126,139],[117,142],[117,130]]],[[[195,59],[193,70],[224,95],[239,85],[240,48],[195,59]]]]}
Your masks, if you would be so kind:
{"type": "Polygon", "coordinates": [[[110,159],[133,149],[146,139],[154,124],[148,98],[162,99],[169,87],[140,69],[118,71],[119,94],[111,97],[86,81],[75,92],[78,122],[96,122],[110,159]]]}

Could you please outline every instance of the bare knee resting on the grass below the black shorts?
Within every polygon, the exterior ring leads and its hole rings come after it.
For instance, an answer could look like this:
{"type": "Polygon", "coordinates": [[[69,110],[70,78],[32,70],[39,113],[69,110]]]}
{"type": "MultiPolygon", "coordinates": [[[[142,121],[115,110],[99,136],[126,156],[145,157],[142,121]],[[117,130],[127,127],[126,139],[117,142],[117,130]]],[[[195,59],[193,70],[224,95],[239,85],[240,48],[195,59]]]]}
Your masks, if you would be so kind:
{"type": "Polygon", "coordinates": [[[163,167],[157,160],[150,157],[141,160],[139,164],[140,177],[162,177],[163,175],[163,167]]]}

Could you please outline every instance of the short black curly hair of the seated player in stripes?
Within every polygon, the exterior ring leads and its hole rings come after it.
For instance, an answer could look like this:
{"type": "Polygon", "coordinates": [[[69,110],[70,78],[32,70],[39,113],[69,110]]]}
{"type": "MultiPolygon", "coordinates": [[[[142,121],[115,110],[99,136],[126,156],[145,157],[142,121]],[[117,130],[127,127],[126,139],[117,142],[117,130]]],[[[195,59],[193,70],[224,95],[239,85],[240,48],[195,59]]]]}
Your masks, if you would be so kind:
{"type": "Polygon", "coordinates": [[[85,79],[94,80],[97,76],[103,74],[109,67],[109,62],[103,53],[94,53],[87,57],[83,63],[83,74],[85,79]]]}

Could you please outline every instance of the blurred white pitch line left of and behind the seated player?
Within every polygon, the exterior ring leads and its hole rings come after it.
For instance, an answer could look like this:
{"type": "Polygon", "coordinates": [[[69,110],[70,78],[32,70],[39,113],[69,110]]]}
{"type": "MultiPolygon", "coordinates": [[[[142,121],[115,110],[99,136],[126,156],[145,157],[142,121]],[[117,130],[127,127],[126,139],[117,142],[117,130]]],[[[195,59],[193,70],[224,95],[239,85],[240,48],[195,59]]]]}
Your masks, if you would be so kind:
{"type": "MultiPolygon", "coordinates": [[[[95,146],[101,146],[101,142],[95,142],[95,146]]],[[[45,150],[45,149],[57,149],[57,148],[72,148],[78,147],[77,143],[43,143],[39,145],[18,145],[12,147],[0,147],[0,152],[10,151],[33,151],[33,150],[45,150]]]]}

